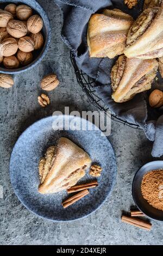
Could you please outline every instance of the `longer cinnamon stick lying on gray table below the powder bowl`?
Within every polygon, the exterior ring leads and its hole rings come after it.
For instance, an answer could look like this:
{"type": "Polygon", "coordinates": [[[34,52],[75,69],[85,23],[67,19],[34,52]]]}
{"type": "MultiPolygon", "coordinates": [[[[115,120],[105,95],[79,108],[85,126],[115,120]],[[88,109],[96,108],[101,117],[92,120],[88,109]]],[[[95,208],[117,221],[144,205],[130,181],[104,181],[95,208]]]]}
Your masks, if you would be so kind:
{"type": "Polygon", "coordinates": [[[122,215],[122,222],[126,222],[128,224],[134,225],[135,227],[139,227],[146,230],[150,230],[152,227],[152,224],[147,221],[140,220],[139,218],[135,218],[135,217],[124,216],[124,215],[122,215]]]}

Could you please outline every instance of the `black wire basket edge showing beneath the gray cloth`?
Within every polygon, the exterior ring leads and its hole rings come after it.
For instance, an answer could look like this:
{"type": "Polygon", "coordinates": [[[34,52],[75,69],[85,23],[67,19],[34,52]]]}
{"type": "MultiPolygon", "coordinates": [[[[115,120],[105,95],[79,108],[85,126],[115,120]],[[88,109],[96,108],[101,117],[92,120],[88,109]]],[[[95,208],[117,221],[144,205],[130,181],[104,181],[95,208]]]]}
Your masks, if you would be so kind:
{"type": "MultiPolygon", "coordinates": [[[[108,106],[106,106],[105,102],[101,99],[101,97],[97,95],[95,87],[93,86],[93,84],[95,84],[95,80],[93,80],[93,78],[86,75],[82,70],[78,69],[76,60],[72,52],[70,53],[70,57],[71,57],[71,62],[77,77],[77,82],[80,85],[80,87],[82,87],[83,91],[86,93],[92,105],[97,107],[100,111],[104,111],[105,113],[108,113],[109,111],[108,106]]],[[[127,125],[133,129],[142,130],[142,128],[139,125],[129,123],[128,121],[117,117],[117,115],[114,113],[111,113],[111,119],[114,121],[117,121],[118,123],[127,125]]]]}

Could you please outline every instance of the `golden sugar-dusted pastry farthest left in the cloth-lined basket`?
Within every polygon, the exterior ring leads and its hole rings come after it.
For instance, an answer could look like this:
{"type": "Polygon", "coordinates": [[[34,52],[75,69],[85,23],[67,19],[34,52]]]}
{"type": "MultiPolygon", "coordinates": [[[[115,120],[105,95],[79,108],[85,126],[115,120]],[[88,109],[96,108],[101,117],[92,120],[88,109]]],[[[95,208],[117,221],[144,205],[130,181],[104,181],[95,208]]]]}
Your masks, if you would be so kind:
{"type": "Polygon", "coordinates": [[[133,21],[130,15],[118,9],[105,9],[102,14],[93,14],[87,29],[90,57],[114,58],[122,54],[133,21]]]}

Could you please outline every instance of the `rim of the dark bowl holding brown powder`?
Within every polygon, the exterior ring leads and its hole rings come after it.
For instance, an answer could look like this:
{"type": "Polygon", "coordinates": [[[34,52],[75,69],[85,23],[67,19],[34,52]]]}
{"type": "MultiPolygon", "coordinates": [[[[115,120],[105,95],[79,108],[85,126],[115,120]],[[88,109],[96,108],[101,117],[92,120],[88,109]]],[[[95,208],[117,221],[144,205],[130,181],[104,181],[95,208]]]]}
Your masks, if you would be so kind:
{"type": "MultiPolygon", "coordinates": [[[[163,212],[162,212],[162,220],[159,220],[158,218],[156,218],[155,216],[154,216],[154,214],[147,214],[147,212],[146,212],[146,210],[144,209],[144,208],[142,208],[140,205],[139,205],[139,203],[137,203],[137,200],[135,199],[135,192],[134,192],[134,182],[135,182],[135,178],[136,178],[136,176],[137,176],[137,174],[139,174],[139,172],[141,171],[141,169],[143,168],[143,167],[146,167],[146,165],[148,165],[148,164],[153,164],[153,163],[162,163],[162,168],[163,168],[163,161],[161,161],[161,160],[158,160],[158,161],[151,161],[151,162],[148,162],[148,163],[146,163],[146,164],[144,164],[143,166],[141,166],[138,170],[137,170],[137,172],[135,173],[135,175],[134,175],[134,179],[133,179],[133,184],[132,184],[132,196],[133,196],[133,200],[134,200],[134,202],[135,202],[135,205],[137,206],[137,208],[143,213],[143,214],[145,214],[147,217],[149,217],[149,218],[151,218],[152,220],[154,220],[154,221],[160,221],[160,222],[162,222],[163,221],[163,212]]],[[[152,170],[152,169],[151,169],[152,170]]],[[[147,172],[150,172],[151,170],[148,170],[147,172]]],[[[154,169],[153,169],[154,170],[154,169]]],[[[146,173],[147,173],[146,172],[146,173]]],[[[151,205],[151,207],[153,208],[153,206],[151,205]]],[[[156,208],[154,208],[154,210],[155,211],[160,211],[160,210],[158,210],[158,209],[156,209],[156,208]]]]}

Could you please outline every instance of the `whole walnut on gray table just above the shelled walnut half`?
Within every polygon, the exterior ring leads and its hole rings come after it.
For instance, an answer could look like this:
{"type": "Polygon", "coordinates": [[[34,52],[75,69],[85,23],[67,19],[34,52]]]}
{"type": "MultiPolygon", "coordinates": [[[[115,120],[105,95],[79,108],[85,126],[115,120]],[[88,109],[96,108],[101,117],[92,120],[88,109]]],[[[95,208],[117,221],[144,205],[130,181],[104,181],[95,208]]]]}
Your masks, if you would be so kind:
{"type": "Polygon", "coordinates": [[[58,85],[59,80],[55,74],[47,75],[41,81],[41,88],[47,91],[54,90],[58,85]]]}

